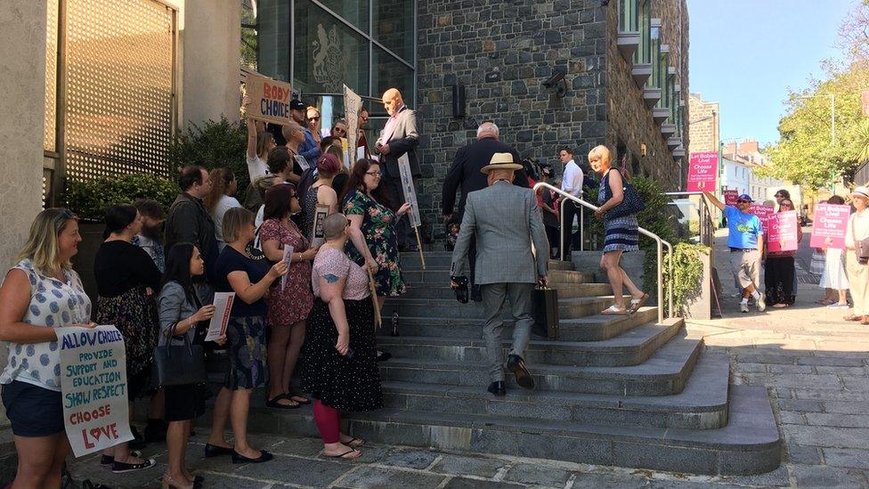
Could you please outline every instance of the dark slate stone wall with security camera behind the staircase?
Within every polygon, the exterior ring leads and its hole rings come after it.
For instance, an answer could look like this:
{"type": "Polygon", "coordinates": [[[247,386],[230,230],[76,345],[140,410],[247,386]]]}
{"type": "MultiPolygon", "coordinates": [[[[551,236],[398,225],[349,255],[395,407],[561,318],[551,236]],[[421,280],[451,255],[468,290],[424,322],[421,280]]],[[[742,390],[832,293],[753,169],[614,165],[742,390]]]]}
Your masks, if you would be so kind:
{"type": "MultiPolygon", "coordinates": [[[[685,0],[651,0],[662,19],[681,96],[688,94],[685,0]]],[[[678,188],[678,163],[654,123],[629,63],[616,45],[618,0],[426,0],[418,3],[417,101],[423,177],[419,205],[426,237],[440,240],[441,187],[453,155],[493,120],[501,141],[560,172],[557,148],[578,161],[597,144],[628,151],[635,173],[678,188]],[[566,72],[564,96],[542,83],[566,72]],[[452,86],[466,87],[464,118],[452,114],[452,86]],[[646,157],[640,144],[646,144],[646,157]]],[[[687,138],[685,138],[687,139],[687,138]]],[[[687,141],[684,143],[687,147],[687,141]]]]}

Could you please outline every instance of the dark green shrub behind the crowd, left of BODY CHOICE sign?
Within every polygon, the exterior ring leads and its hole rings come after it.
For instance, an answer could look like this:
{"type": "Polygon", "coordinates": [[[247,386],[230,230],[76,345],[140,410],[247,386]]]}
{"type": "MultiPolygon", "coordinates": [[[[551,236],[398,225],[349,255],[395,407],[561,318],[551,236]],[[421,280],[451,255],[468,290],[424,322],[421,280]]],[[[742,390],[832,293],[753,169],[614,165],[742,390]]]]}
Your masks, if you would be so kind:
{"type": "Polygon", "coordinates": [[[199,165],[212,170],[227,167],[239,182],[239,192],[248,187],[248,130],[224,117],[219,121],[207,120],[202,126],[190,123],[187,131],[179,134],[169,145],[169,163],[173,175],[178,167],[199,165]]]}

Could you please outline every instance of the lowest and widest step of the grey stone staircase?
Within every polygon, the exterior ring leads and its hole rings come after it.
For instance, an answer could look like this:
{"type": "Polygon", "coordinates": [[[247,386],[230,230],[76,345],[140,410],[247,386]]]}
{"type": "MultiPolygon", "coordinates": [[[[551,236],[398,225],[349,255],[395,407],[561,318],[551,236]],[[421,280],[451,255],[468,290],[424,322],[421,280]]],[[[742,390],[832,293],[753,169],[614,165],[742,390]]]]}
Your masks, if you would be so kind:
{"type": "MultiPolygon", "coordinates": [[[[257,393],[251,400],[250,431],[319,436],[311,406],[271,410],[264,408],[263,398],[257,393]]],[[[764,387],[731,387],[727,426],[719,429],[642,428],[395,408],[348,414],[344,419],[348,434],[371,442],[634,469],[749,475],[776,469],[782,458],[782,441],[764,387]]],[[[200,416],[197,422],[207,427],[211,417],[200,416]]]]}

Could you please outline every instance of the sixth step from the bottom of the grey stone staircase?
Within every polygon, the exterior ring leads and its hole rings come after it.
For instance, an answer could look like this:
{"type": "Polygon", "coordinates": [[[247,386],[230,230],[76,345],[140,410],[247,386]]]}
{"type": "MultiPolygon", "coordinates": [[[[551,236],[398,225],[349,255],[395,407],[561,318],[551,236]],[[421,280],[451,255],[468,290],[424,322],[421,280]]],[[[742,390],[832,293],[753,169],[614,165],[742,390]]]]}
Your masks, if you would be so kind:
{"type": "MultiPolygon", "coordinates": [[[[626,304],[630,296],[625,296],[626,304]]],[[[597,314],[613,304],[613,296],[573,297],[558,299],[558,314],[560,319],[574,319],[597,314]]],[[[482,302],[470,301],[461,304],[453,299],[418,299],[394,297],[385,302],[381,314],[392,316],[398,311],[399,316],[434,315],[437,317],[463,317],[468,319],[483,319],[485,317],[482,302]]],[[[501,309],[501,317],[512,317],[509,303],[501,309]]]]}

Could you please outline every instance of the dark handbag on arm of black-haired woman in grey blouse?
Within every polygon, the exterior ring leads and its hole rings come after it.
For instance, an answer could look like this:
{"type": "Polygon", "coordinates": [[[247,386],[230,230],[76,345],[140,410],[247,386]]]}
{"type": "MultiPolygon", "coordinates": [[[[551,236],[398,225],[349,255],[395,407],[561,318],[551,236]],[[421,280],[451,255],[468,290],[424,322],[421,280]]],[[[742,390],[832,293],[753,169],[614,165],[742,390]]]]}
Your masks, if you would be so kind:
{"type": "Polygon", "coordinates": [[[206,382],[208,376],[202,346],[191,344],[190,336],[186,332],[183,335],[183,345],[170,345],[168,335],[167,331],[166,346],[154,348],[154,363],[151,368],[151,382],[154,387],[206,382]]]}

